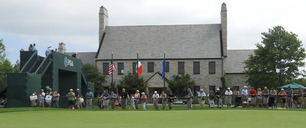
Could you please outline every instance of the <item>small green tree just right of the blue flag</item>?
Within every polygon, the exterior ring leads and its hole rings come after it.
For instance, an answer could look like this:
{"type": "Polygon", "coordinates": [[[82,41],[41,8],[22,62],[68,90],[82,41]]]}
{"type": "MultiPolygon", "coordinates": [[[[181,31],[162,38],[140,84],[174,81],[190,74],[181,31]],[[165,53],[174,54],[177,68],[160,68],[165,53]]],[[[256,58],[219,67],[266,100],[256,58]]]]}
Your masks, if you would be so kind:
{"type": "Polygon", "coordinates": [[[182,75],[173,75],[172,80],[167,80],[169,88],[176,94],[177,96],[185,96],[187,94],[187,89],[190,88],[193,90],[196,82],[190,78],[190,75],[182,74],[182,75]]]}

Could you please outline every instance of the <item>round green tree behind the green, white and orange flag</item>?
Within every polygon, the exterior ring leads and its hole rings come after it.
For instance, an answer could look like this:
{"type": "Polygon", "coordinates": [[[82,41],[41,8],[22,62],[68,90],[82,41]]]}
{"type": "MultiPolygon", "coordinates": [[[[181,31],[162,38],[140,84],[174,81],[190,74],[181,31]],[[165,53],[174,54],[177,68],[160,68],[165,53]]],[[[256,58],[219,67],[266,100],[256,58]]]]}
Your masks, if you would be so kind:
{"type": "MultiPolygon", "coordinates": [[[[128,72],[127,75],[123,76],[122,79],[119,81],[120,83],[117,85],[118,89],[125,89],[126,92],[129,94],[134,94],[137,90],[137,75],[128,72]]],[[[148,83],[144,81],[142,76],[138,77],[138,86],[139,92],[147,93],[148,83]]],[[[118,90],[121,92],[121,90],[118,90]]]]}

